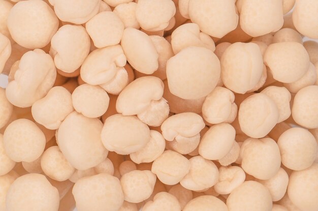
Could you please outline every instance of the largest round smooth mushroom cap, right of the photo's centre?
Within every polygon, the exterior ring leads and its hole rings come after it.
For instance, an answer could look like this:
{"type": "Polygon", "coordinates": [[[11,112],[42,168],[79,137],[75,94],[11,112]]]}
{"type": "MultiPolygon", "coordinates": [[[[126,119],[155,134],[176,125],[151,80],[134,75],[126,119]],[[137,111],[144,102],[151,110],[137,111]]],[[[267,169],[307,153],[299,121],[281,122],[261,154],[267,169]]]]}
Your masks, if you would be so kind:
{"type": "Polygon", "coordinates": [[[183,99],[207,96],[216,87],[219,77],[219,60],[206,48],[187,47],[167,62],[169,89],[183,99]]]}

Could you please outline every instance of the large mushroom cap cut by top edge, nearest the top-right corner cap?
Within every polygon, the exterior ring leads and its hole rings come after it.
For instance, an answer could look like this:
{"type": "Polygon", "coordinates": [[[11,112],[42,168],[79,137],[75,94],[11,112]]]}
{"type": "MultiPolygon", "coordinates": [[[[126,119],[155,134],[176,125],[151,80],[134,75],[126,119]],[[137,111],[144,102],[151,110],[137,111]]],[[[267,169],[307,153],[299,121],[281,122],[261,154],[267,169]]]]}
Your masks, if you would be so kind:
{"type": "Polygon", "coordinates": [[[282,1],[242,1],[240,26],[248,35],[256,37],[278,31],[283,22],[282,1]]]}

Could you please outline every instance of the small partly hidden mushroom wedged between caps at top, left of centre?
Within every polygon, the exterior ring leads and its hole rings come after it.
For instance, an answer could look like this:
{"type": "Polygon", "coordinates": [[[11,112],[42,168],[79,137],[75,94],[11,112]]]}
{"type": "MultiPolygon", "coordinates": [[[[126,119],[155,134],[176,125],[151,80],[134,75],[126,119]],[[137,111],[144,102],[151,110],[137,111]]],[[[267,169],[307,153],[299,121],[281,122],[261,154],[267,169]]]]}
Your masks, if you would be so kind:
{"type": "Polygon", "coordinates": [[[132,27],[139,29],[140,25],[136,18],[137,3],[123,3],[115,7],[113,12],[121,19],[125,28],[132,27]]]}

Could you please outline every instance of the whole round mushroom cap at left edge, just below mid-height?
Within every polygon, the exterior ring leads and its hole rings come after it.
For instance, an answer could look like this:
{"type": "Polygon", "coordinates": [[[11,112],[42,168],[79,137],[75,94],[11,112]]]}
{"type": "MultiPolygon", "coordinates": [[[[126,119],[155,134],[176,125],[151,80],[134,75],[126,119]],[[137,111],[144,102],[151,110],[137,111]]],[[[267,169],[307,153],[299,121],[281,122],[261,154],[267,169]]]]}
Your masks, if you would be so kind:
{"type": "Polygon", "coordinates": [[[46,140],[36,123],[28,119],[17,119],[7,126],[3,143],[10,159],[32,162],[43,153],[46,140]]]}

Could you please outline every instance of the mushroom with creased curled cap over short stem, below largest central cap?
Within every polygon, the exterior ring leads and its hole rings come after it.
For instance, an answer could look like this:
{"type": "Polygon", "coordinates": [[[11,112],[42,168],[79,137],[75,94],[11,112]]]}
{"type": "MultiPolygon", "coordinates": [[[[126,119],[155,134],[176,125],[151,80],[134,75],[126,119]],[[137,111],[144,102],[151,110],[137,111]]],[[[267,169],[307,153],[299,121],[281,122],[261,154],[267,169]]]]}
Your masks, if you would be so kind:
{"type": "Polygon", "coordinates": [[[205,124],[196,113],[179,113],[168,117],[161,125],[167,148],[180,154],[195,150],[200,142],[200,132],[205,124]]]}

